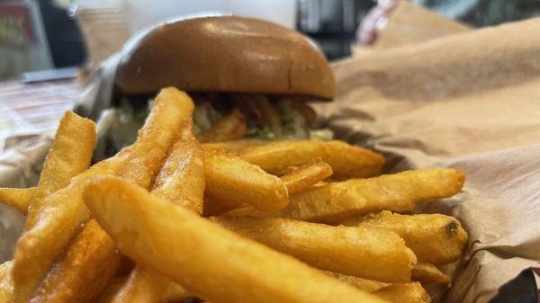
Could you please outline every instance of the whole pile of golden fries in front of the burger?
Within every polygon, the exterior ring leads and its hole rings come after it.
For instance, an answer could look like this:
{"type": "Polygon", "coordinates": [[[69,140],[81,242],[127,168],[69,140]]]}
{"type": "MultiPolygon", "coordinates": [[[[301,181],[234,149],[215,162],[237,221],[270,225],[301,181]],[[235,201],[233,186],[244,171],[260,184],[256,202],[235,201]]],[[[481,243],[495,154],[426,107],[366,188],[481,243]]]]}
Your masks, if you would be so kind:
{"type": "Polygon", "coordinates": [[[91,166],[94,122],[66,113],[37,187],[0,189],[27,218],[0,302],[429,302],[423,285],[450,282],[436,265],[463,254],[460,222],[400,212],[461,192],[462,172],[233,140],[238,111],[201,144],[193,108],[163,89],[136,142],[91,166]]]}

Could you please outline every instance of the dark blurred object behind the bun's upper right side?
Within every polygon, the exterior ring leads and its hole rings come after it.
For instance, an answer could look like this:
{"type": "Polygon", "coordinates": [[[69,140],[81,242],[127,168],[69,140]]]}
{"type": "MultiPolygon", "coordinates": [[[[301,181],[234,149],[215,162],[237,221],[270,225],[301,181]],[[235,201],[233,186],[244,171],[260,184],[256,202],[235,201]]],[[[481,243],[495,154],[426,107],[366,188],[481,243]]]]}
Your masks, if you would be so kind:
{"type": "Polygon", "coordinates": [[[365,0],[301,0],[297,29],[315,40],[327,58],[347,57],[356,27],[374,4],[365,0]]]}

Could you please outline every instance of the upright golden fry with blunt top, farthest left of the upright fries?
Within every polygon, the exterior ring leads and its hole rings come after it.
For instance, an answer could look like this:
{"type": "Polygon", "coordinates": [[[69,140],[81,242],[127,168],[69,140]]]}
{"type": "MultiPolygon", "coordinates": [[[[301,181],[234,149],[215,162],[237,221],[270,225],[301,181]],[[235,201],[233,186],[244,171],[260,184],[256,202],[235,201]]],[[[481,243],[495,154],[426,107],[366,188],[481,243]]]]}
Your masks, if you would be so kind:
{"type": "Polygon", "coordinates": [[[24,230],[34,226],[46,207],[44,201],[50,194],[65,187],[71,178],[88,168],[94,153],[95,140],[94,121],[66,111],[45,159],[40,183],[28,209],[24,230]]]}

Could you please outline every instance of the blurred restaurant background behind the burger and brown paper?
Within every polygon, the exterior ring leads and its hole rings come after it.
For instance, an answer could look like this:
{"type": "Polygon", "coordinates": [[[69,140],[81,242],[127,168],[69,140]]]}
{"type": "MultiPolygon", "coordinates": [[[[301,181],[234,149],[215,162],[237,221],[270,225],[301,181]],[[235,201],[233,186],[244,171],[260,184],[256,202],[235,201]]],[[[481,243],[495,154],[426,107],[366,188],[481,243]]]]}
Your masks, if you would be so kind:
{"type": "Polygon", "coordinates": [[[526,19],[540,0],[0,0],[0,150],[2,138],[54,131],[133,33],[193,13],[277,22],[339,60],[526,19]]]}

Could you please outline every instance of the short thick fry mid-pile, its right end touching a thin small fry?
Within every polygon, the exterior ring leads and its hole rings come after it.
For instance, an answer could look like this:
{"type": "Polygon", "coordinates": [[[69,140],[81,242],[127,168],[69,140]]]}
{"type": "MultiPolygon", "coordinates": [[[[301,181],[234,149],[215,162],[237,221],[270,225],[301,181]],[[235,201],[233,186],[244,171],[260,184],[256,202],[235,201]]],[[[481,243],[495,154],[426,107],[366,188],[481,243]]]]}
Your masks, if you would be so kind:
{"type": "Polygon", "coordinates": [[[257,165],[221,153],[206,153],[205,163],[206,192],[212,197],[263,210],[283,209],[289,202],[284,183],[257,165]]]}

